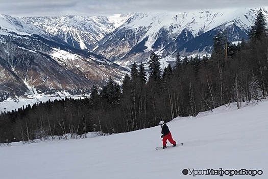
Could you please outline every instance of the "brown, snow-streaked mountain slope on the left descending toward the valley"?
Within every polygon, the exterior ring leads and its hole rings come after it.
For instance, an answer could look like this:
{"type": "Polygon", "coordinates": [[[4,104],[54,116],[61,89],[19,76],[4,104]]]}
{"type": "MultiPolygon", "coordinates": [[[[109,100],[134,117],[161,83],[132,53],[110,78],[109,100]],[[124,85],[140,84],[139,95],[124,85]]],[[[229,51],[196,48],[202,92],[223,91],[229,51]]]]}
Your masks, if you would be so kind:
{"type": "Polygon", "coordinates": [[[93,84],[120,81],[126,69],[19,18],[0,15],[0,100],[32,92],[88,93],[93,84]]]}

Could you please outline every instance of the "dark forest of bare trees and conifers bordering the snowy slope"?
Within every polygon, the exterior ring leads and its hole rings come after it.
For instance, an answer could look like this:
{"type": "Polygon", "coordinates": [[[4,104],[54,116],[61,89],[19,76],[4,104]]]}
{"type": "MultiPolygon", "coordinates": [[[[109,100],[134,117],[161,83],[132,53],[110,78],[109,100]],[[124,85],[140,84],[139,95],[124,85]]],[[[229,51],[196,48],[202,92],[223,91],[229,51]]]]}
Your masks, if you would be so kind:
{"type": "Polygon", "coordinates": [[[268,94],[268,32],[260,10],[249,40],[228,42],[227,32],[214,38],[211,56],[181,57],[161,70],[159,56],[131,65],[122,85],[110,78],[90,97],[65,98],[23,106],[0,115],[0,142],[84,138],[90,131],[129,132],[178,116],[196,116],[221,105],[266,98],[268,94]]]}

